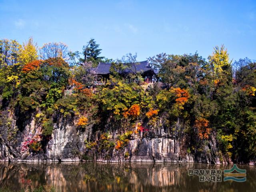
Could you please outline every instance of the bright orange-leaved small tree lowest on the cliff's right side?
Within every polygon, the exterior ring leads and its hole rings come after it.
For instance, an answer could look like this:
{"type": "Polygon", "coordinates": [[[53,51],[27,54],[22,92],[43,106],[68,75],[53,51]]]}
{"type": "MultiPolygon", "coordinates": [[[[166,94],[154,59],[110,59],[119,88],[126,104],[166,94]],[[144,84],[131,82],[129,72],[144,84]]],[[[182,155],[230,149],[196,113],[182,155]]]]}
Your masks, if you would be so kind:
{"type": "Polygon", "coordinates": [[[208,127],[209,121],[205,118],[195,120],[195,127],[198,129],[200,139],[208,139],[211,129],[208,127]]]}

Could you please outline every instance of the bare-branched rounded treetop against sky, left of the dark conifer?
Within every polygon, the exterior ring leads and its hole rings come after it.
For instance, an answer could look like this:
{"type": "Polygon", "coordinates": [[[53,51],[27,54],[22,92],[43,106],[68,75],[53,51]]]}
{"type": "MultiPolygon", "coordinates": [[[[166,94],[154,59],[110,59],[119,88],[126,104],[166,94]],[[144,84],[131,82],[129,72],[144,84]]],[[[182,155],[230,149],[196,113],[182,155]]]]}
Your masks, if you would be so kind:
{"type": "Polygon", "coordinates": [[[50,42],[46,43],[40,48],[40,58],[43,60],[49,58],[62,58],[64,61],[69,60],[70,51],[68,46],[62,42],[50,42]]]}

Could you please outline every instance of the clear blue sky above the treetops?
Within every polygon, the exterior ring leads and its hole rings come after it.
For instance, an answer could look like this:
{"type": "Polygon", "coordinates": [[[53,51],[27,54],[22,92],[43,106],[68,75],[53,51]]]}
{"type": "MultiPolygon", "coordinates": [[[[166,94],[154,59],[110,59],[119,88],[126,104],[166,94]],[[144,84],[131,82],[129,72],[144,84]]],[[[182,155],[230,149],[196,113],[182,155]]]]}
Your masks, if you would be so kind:
{"type": "Polygon", "coordinates": [[[0,18],[0,38],[61,41],[72,51],[95,38],[107,58],[196,51],[207,58],[224,44],[234,60],[256,59],[256,0],[0,0],[0,18]]]}

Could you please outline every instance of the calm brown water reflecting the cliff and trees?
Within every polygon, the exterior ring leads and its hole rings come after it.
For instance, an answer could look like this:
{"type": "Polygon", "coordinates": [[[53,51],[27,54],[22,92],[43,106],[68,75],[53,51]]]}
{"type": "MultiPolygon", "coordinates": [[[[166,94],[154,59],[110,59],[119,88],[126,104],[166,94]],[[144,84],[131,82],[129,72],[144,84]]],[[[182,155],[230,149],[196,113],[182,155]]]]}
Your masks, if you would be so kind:
{"type": "Polygon", "coordinates": [[[199,163],[0,163],[0,188],[19,191],[27,186],[54,185],[63,192],[256,191],[256,166],[246,169],[246,182],[199,182],[188,170],[230,169],[232,165],[199,163]]]}

